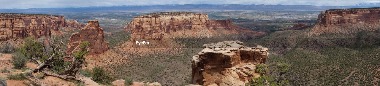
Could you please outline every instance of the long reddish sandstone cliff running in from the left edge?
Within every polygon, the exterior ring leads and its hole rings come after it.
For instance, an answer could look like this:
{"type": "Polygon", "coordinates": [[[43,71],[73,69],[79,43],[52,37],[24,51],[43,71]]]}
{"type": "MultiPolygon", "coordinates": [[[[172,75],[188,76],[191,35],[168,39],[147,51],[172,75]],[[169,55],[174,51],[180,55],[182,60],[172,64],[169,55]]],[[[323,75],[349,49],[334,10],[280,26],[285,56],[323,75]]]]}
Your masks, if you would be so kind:
{"type": "Polygon", "coordinates": [[[63,16],[0,13],[0,41],[27,37],[50,36],[59,27],[83,28],[83,24],[63,16]]]}

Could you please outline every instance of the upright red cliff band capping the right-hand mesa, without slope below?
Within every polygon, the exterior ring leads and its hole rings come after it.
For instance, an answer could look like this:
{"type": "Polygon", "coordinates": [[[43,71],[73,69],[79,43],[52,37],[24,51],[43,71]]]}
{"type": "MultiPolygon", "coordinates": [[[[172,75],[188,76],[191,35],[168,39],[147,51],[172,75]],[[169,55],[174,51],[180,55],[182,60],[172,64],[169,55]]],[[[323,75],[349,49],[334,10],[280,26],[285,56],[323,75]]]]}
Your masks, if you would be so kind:
{"type": "Polygon", "coordinates": [[[380,20],[380,8],[329,9],[318,16],[321,25],[371,23],[380,20]]]}

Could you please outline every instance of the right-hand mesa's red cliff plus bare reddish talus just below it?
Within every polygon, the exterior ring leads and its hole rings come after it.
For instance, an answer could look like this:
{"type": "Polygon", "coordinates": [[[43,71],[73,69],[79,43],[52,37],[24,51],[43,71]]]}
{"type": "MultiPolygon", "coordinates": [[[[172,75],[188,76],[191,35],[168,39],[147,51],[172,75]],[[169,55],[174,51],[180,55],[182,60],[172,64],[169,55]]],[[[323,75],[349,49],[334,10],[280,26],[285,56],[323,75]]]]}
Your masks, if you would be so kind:
{"type": "Polygon", "coordinates": [[[380,8],[329,9],[318,15],[309,35],[357,33],[379,29],[380,8]]]}

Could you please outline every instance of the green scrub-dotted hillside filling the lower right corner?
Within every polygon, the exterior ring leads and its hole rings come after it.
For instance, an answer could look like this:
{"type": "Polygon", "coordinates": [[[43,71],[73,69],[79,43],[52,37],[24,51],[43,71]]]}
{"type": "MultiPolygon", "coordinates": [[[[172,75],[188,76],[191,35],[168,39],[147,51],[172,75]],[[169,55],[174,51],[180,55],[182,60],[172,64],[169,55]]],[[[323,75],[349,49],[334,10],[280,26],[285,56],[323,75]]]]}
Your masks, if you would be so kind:
{"type": "Polygon", "coordinates": [[[296,50],[285,56],[271,56],[267,62],[291,63],[292,68],[284,74],[290,85],[377,85],[379,52],[376,45],[328,46],[319,51],[296,50]]]}

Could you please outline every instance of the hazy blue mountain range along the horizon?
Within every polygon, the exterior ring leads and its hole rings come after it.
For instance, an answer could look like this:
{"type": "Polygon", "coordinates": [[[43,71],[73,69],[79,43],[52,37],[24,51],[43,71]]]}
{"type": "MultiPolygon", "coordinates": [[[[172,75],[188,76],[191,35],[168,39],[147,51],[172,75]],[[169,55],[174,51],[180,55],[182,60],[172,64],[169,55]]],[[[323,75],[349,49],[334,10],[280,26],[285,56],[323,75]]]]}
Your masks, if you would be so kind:
{"type": "Polygon", "coordinates": [[[359,3],[351,6],[313,6],[313,5],[122,5],[122,6],[91,6],[81,8],[29,8],[0,9],[0,13],[45,13],[45,12],[98,12],[98,11],[142,11],[142,10],[316,10],[342,8],[380,7],[380,3],[359,3]]]}

